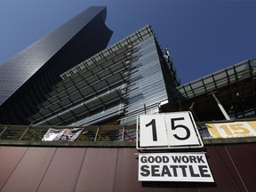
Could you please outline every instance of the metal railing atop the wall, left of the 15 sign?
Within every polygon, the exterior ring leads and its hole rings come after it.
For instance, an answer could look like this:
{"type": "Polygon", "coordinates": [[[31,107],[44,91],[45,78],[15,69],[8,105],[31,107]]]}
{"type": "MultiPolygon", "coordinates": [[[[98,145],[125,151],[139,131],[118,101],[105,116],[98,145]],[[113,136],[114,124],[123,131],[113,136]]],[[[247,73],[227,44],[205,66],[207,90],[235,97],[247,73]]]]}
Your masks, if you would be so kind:
{"type": "Polygon", "coordinates": [[[50,129],[82,128],[76,141],[136,140],[136,125],[27,126],[0,124],[0,140],[42,140],[50,129]]]}

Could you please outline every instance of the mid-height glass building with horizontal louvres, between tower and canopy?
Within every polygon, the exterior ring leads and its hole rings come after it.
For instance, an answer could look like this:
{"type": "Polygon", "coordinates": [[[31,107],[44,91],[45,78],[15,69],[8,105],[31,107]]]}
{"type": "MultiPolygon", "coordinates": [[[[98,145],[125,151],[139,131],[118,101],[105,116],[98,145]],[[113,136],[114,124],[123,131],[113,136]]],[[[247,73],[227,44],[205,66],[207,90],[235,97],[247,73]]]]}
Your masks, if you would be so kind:
{"type": "Polygon", "coordinates": [[[171,104],[178,77],[149,26],[60,76],[31,124],[134,124],[138,114],[159,113],[163,105],[177,109],[171,104]]]}

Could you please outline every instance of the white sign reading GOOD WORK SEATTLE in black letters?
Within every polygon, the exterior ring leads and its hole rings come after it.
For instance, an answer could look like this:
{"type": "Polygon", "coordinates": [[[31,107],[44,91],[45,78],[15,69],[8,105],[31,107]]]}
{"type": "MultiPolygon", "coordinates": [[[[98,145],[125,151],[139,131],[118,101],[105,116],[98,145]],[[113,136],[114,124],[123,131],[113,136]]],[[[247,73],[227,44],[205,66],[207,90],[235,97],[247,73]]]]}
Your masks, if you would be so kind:
{"type": "Polygon", "coordinates": [[[139,154],[140,181],[214,182],[204,153],[139,154]]]}

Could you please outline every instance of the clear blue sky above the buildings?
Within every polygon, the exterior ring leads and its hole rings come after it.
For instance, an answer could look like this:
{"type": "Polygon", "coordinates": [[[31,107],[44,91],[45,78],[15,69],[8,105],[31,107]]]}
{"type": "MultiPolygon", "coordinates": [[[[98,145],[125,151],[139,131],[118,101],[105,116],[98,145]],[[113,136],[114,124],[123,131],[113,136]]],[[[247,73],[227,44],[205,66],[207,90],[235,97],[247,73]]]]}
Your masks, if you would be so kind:
{"type": "Polygon", "coordinates": [[[108,8],[110,44],[151,25],[181,84],[256,58],[256,1],[0,0],[0,63],[92,5],[108,8]]]}

